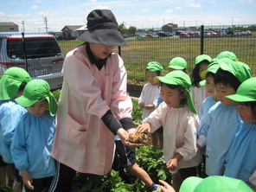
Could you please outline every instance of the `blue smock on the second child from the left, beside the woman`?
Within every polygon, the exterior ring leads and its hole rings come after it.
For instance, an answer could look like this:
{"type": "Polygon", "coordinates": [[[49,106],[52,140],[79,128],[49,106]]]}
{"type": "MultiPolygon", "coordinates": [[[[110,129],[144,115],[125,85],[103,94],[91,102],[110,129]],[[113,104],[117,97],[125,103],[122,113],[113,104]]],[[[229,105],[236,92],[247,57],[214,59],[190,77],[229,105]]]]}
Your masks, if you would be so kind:
{"type": "Polygon", "coordinates": [[[48,110],[40,117],[27,112],[16,127],[11,144],[11,156],[17,170],[28,170],[32,178],[54,176],[51,157],[55,119],[48,110]]]}

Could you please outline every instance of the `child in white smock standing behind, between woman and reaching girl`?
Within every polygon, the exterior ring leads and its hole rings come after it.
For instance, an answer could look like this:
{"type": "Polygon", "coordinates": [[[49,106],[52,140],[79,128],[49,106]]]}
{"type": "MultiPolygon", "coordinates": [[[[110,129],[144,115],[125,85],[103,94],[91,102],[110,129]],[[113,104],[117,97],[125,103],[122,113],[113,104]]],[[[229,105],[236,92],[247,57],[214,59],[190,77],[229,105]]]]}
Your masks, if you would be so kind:
{"type": "MultiPolygon", "coordinates": [[[[142,120],[149,117],[150,113],[157,108],[157,99],[160,94],[160,87],[159,82],[156,82],[154,78],[156,76],[160,76],[162,70],[163,67],[157,61],[151,61],[147,64],[145,69],[145,76],[148,80],[148,83],[144,85],[138,98],[138,105],[143,108],[142,120]]],[[[151,133],[151,139],[153,145],[161,145],[161,138],[158,138],[157,131],[151,133]]]]}

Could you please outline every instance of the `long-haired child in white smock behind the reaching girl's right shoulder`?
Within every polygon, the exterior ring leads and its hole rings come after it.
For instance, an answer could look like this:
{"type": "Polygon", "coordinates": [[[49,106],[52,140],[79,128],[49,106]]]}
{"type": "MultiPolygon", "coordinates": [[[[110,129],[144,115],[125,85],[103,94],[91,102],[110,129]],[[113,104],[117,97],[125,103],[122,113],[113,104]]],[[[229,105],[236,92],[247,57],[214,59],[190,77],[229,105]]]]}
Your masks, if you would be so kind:
{"type": "Polygon", "coordinates": [[[208,54],[200,54],[195,58],[195,67],[190,74],[192,81],[192,86],[190,88],[195,109],[200,112],[200,107],[202,101],[206,99],[207,94],[204,86],[200,86],[200,81],[202,80],[201,73],[204,71],[208,65],[212,62],[211,57],[208,54]]]}

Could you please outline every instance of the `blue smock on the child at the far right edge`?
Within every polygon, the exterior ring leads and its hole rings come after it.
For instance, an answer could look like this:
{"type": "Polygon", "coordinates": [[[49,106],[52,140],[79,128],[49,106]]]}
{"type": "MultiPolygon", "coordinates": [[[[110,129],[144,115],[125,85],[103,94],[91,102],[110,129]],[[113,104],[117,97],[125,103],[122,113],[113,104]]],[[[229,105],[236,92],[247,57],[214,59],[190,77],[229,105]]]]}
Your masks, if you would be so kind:
{"type": "Polygon", "coordinates": [[[240,122],[239,132],[227,152],[224,176],[249,182],[256,170],[256,125],[240,122]]]}

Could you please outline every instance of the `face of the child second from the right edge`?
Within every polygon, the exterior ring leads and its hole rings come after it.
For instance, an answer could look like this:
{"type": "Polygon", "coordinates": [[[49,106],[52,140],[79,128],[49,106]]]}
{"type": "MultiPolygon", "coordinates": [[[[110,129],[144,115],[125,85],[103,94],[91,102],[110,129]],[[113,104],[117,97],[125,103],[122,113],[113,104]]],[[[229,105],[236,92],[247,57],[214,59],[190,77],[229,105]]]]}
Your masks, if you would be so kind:
{"type": "Polygon", "coordinates": [[[226,96],[234,94],[234,88],[231,86],[223,86],[222,83],[217,84],[216,86],[216,96],[221,101],[223,106],[237,106],[237,102],[231,99],[227,99],[226,96]]]}

